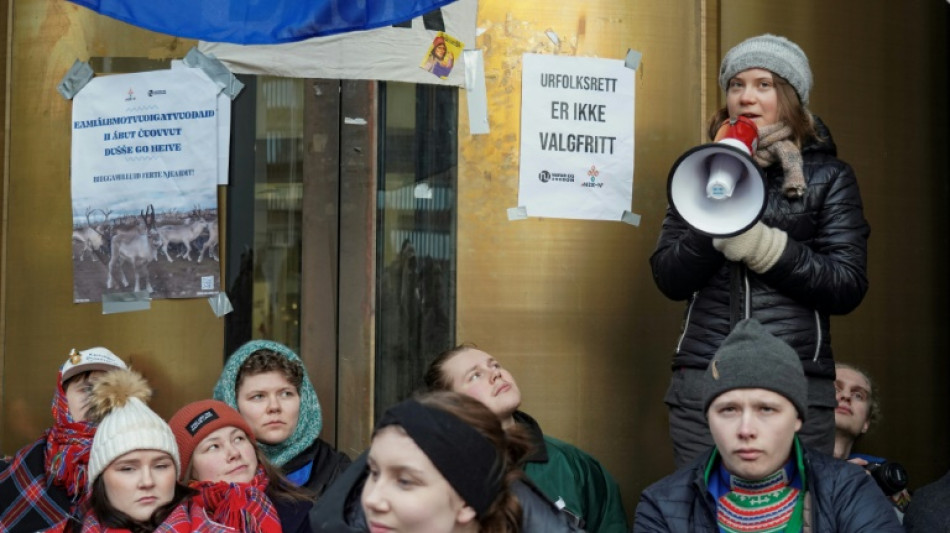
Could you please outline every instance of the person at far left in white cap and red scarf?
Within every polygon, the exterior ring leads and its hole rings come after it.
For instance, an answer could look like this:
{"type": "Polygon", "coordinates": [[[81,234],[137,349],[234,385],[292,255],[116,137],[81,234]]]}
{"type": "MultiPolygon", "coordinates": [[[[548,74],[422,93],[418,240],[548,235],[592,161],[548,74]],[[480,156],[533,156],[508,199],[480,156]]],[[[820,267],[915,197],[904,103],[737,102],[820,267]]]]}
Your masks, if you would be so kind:
{"type": "Polygon", "coordinates": [[[53,394],[53,426],[0,470],[0,531],[33,533],[73,514],[86,497],[86,465],[96,426],[86,398],[105,372],[126,368],[106,348],[72,350],[53,394]]]}

